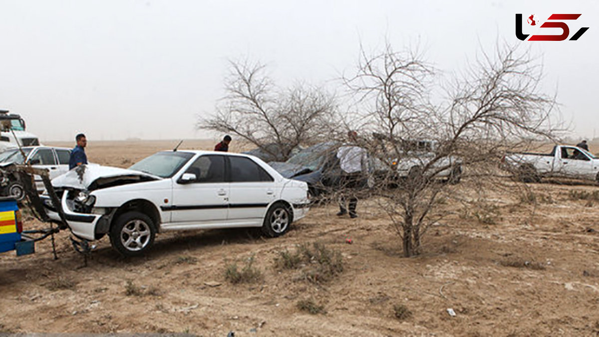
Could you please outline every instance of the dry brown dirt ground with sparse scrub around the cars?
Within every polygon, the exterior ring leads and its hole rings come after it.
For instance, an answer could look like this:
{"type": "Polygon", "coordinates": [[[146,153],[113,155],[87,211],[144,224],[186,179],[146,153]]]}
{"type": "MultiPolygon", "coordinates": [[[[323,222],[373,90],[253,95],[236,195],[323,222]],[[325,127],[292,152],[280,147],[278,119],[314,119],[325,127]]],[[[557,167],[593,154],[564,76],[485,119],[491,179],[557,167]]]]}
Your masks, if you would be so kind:
{"type": "MultiPolygon", "coordinates": [[[[90,142],[87,154],[91,162],[129,166],[173,146],[90,142]]],[[[571,192],[599,189],[528,187],[534,201],[498,190],[476,207],[443,205],[453,214],[429,229],[423,254],[409,259],[374,199],[360,202],[356,219],[335,217],[335,205],[312,208],[275,239],[239,229],[161,233],[146,257],[125,259],[103,238],[86,267],[61,232],[58,260],[50,240],[33,255],[0,256],[0,332],[599,336],[599,201],[571,192]],[[317,241],[341,252],[338,277],[314,284],[275,268],[279,251],[317,241]],[[227,282],[226,266],[251,256],[264,280],[227,282]],[[304,299],[326,313],[300,311],[304,299]],[[412,315],[396,318],[395,305],[412,315]]],[[[473,189],[467,180],[459,188],[473,189]]]]}

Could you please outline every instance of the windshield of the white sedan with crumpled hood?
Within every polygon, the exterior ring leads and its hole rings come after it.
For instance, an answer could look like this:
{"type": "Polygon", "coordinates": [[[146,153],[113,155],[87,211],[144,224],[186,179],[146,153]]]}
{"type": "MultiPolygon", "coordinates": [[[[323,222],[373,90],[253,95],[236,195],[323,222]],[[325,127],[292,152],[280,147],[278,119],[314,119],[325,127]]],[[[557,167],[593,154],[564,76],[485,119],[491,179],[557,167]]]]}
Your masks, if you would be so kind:
{"type": "Polygon", "coordinates": [[[173,177],[185,163],[193,157],[193,153],[179,151],[165,151],[152,154],[140,162],[135,163],[129,169],[162,178],[173,177]]]}

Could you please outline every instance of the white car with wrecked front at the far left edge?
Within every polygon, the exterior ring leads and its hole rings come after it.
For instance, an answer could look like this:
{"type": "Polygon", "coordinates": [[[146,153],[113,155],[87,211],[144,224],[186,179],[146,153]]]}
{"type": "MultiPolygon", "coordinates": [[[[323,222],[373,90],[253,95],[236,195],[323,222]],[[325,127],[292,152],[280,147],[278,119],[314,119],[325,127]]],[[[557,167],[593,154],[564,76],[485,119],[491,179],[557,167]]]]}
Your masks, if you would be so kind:
{"type": "MultiPolygon", "coordinates": [[[[69,171],[70,156],[69,148],[47,146],[11,148],[0,153],[0,195],[12,196],[17,202],[25,198],[25,187],[20,178],[2,168],[12,164],[30,164],[34,168],[47,169],[52,179],[69,171]]],[[[44,184],[37,175],[35,187],[38,192],[44,192],[44,184]]]]}

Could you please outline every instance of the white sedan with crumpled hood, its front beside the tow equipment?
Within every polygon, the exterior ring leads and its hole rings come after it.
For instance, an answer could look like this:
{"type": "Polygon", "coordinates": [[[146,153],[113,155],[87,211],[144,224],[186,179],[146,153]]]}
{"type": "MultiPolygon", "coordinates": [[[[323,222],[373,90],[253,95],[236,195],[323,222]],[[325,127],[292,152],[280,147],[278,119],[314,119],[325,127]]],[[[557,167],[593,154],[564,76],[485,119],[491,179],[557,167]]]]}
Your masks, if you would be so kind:
{"type": "MultiPolygon", "coordinates": [[[[262,227],[280,236],[308,211],[308,186],[262,160],[211,151],[162,151],[129,169],[84,165],[52,180],[71,232],[105,234],[125,256],[145,253],[166,230],[262,227]]],[[[60,217],[46,195],[50,218],[60,217]]]]}

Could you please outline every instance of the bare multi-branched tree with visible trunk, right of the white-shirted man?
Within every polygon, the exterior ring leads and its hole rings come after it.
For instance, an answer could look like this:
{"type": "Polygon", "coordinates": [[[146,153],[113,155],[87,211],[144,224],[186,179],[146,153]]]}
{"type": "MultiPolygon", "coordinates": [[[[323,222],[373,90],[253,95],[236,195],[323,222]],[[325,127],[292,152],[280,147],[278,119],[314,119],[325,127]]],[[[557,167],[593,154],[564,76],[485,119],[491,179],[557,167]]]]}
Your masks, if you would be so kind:
{"type": "Polygon", "coordinates": [[[447,215],[439,201],[458,192],[462,175],[471,184],[497,177],[507,149],[553,138],[557,126],[555,99],[539,89],[540,66],[514,47],[482,53],[443,83],[441,104],[429,97],[437,78],[420,54],[391,45],[374,56],[362,51],[356,74],[344,77],[360,107],[353,125],[367,131],[362,145],[378,165],[373,193],[406,257],[420,253],[428,227],[447,215]]]}

